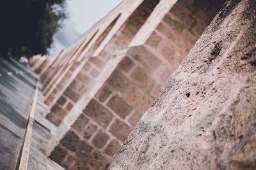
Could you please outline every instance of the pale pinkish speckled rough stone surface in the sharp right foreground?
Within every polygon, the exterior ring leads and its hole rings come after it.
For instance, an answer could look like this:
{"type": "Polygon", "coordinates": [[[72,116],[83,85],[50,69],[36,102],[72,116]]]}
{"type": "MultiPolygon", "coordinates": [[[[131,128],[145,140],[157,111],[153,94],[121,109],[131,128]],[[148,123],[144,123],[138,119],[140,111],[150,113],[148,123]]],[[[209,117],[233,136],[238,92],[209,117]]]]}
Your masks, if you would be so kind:
{"type": "Polygon", "coordinates": [[[256,1],[227,1],[106,169],[256,169],[256,1]]]}

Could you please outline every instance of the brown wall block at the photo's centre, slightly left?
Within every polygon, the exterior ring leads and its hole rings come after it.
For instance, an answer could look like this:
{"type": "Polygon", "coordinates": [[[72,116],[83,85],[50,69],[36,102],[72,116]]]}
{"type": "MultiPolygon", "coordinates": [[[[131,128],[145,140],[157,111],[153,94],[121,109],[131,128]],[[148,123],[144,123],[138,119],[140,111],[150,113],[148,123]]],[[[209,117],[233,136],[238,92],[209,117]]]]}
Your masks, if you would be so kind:
{"type": "Polygon", "coordinates": [[[125,77],[124,74],[120,73],[118,70],[113,71],[107,82],[116,90],[124,92],[124,94],[129,92],[129,89],[132,88],[131,81],[128,80],[127,77],[125,77]]]}

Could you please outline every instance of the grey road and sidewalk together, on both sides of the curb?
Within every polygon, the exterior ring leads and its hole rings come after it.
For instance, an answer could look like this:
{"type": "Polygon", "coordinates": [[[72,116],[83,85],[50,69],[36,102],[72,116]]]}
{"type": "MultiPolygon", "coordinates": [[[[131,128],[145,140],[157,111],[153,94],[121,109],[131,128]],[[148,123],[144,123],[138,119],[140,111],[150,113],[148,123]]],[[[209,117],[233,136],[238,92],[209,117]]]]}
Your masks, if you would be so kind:
{"type": "MultiPolygon", "coordinates": [[[[37,81],[29,67],[0,57],[0,169],[19,169],[37,81]]],[[[45,156],[46,142],[56,127],[42,116],[48,108],[40,83],[37,94],[28,169],[63,169],[45,156]]]]}

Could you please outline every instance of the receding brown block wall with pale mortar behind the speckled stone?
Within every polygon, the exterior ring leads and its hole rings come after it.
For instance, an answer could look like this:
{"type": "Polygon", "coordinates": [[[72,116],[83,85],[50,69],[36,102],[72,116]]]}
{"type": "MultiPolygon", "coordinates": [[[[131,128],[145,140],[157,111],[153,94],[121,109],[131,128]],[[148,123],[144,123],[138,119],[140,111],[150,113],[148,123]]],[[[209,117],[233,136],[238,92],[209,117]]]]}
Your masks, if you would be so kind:
{"type": "Polygon", "coordinates": [[[78,53],[73,57],[80,62],[68,67],[70,52],[63,53],[52,64],[62,78],[52,73],[45,78],[49,94],[45,103],[52,106],[47,118],[60,125],[49,141],[51,159],[67,169],[102,169],[159,96],[221,3],[177,1],[143,45],[127,48],[159,4],[143,1],[103,48],[99,46],[123,14],[116,15],[100,36],[91,32],[86,44],[77,44],[80,50],[70,51],[78,53]],[[123,48],[125,52],[118,54],[123,48]],[[99,55],[92,57],[95,51],[99,55]]]}

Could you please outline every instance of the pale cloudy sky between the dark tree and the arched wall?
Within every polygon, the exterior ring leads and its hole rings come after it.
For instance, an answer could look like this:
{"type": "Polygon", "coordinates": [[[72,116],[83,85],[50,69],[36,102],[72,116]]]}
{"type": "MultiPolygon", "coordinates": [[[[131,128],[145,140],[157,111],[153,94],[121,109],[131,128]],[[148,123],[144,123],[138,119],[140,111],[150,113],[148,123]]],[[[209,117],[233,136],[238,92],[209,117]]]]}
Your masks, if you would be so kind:
{"type": "Polygon", "coordinates": [[[121,2],[122,0],[67,0],[68,17],[63,21],[62,29],[54,34],[49,54],[58,55],[121,2]]]}

